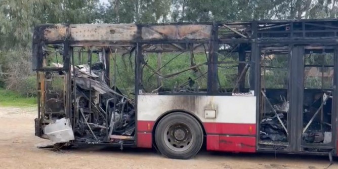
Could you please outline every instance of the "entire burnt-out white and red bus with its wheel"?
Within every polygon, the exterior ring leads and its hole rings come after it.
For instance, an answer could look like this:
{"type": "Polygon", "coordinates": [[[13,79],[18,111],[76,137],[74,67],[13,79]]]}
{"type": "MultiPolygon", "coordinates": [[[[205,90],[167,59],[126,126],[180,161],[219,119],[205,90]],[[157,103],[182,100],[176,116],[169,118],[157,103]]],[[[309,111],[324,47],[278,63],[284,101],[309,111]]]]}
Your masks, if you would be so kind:
{"type": "Polygon", "coordinates": [[[58,147],[337,155],[338,20],[44,24],[35,135],[58,147]]]}

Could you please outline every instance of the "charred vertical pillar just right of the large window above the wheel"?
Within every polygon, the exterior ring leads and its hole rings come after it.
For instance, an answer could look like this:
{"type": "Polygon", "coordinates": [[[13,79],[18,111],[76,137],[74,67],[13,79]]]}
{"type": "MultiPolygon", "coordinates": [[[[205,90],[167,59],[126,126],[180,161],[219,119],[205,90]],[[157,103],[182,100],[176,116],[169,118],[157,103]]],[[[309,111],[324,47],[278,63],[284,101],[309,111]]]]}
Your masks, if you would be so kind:
{"type": "Polygon", "coordinates": [[[219,88],[218,80],[218,23],[213,23],[212,37],[209,42],[209,58],[208,58],[208,78],[207,78],[207,93],[209,95],[217,95],[219,88]]]}

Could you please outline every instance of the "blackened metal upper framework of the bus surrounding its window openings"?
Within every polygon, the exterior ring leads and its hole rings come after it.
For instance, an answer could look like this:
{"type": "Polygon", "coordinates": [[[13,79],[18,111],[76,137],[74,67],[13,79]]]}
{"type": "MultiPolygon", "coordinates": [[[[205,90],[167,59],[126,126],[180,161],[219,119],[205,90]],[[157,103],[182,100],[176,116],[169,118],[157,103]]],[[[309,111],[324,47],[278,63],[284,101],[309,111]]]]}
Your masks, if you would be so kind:
{"type": "MultiPolygon", "coordinates": [[[[146,24],[103,24],[100,27],[97,25],[43,25],[38,27],[34,31],[33,40],[33,68],[37,70],[38,79],[40,82],[44,81],[44,73],[46,71],[64,71],[66,88],[65,91],[71,91],[71,65],[74,66],[74,51],[75,47],[98,47],[103,49],[104,53],[122,53],[126,55],[136,55],[135,63],[136,69],[136,87],[135,94],[138,95],[141,89],[140,83],[142,80],[140,77],[142,65],[142,54],[147,53],[165,53],[165,52],[190,52],[191,44],[193,49],[200,53],[206,53],[204,48],[201,48],[201,44],[208,46],[207,60],[207,89],[204,95],[227,95],[222,94],[219,91],[218,69],[219,69],[219,56],[221,52],[228,53],[240,53],[238,61],[238,74],[245,74],[243,72],[248,71],[250,76],[247,77],[249,81],[249,89],[254,90],[255,96],[261,94],[261,81],[258,77],[261,76],[260,58],[261,48],[269,49],[268,51],[273,53],[284,53],[292,55],[297,52],[298,46],[308,46],[307,48],[316,49],[317,45],[325,44],[324,46],[336,45],[336,36],[338,32],[338,22],[336,20],[284,20],[284,21],[252,21],[252,22],[215,22],[215,23],[178,23],[168,25],[146,25],[146,24]],[[190,28],[189,31],[187,28],[190,28]],[[192,29],[192,30],[191,30],[192,29]],[[81,30],[88,30],[89,33],[83,35],[81,30]],[[99,34],[99,35],[97,35],[99,34]],[[100,34],[102,36],[100,36],[100,34]],[[43,66],[43,53],[42,48],[45,44],[63,44],[63,67],[62,68],[46,68],[43,66]],[[227,46],[227,48],[220,48],[221,45],[227,46]],[[297,48],[296,48],[297,47],[297,48]],[[116,52],[115,52],[116,51],[116,52]],[[250,59],[243,59],[242,56],[246,54],[250,55],[250,59]],[[70,60],[73,60],[71,63],[70,60]],[[249,67],[249,68],[248,68],[249,67]]],[[[88,52],[88,51],[87,51],[88,52]]],[[[90,51],[89,53],[92,53],[90,51]]],[[[302,52],[299,52],[301,54],[302,52]]],[[[336,51],[334,52],[335,66],[336,64],[336,51]]],[[[107,56],[107,55],[106,55],[107,56]]],[[[109,60],[109,59],[108,59],[109,60]]],[[[300,60],[290,60],[290,71],[299,72],[300,70],[293,64],[299,63],[300,60]]],[[[228,63],[225,63],[228,64],[228,63]]],[[[106,67],[108,68],[108,67],[106,67]]],[[[190,67],[190,69],[195,67],[190,67]]],[[[109,69],[109,68],[108,68],[109,69]]],[[[158,70],[158,69],[157,69],[158,70]]],[[[107,71],[107,69],[106,69],[107,71]]],[[[91,72],[91,70],[90,70],[91,72]]],[[[155,71],[157,72],[157,71],[155,71]]],[[[109,70],[108,72],[109,73],[109,70]]],[[[163,74],[157,74],[163,75],[163,74]]],[[[290,75],[291,76],[291,75],[290,75]]],[[[116,77],[116,76],[115,76],[116,77]]],[[[293,76],[292,76],[293,77],[293,76]]],[[[293,78],[298,78],[294,76],[293,78]]],[[[116,78],[114,78],[116,79],[116,78]]],[[[235,87],[244,89],[242,78],[239,78],[235,87]],[[237,86],[238,85],[238,86],[237,86]]],[[[110,86],[112,85],[110,79],[106,79],[106,82],[110,86]]],[[[158,81],[158,88],[160,87],[160,81],[158,81]]],[[[289,84],[296,84],[292,82],[290,77],[289,84]]],[[[334,78],[334,84],[338,84],[337,78],[334,78]]],[[[43,84],[39,87],[44,86],[43,84]]],[[[245,86],[245,84],[244,84],[245,86]]],[[[158,89],[156,88],[156,89],[158,89]]],[[[289,89],[292,92],[299,90],[300,87],[295,89],[289,89]]],[[[44,89],[39,89],[44,91],[44,89]]],[[[116,90],[115,90],[116,91],[116,90]]],[[[231,90],[230,94],[235,92],[235,89],[231,90]]],[[[337,100],[337,91],[333,91],[333,100],[337,100]]],[[[65,93],[65,110],[66,112],[72,112],[70,98],[71,93],[65,93]]],[[[167,94],[167,93],[166,93],[167,94]]],[[[193,92],[192,94],[198,94],[193,92]]],[[[295,96],[295,94],[292,94],[295,96]]],[[[289,96],[291,97],[291,96],[289,96]]],[[[292,97],[291,97],[292,98],[292,97]]],[[[39,119],[40,114],[44,114],[44,93],[39,93],[39,119]]],[[[137,99],[137,97],[136,97],[137,99]]],[[[294,99],[293,99],[294,100],[294,99]]],[[[292,107],[292,104],[300,103],[300,99],[297,97],[296,101],[290,99],[290,111],[299,111],[299,107],[292,107]]],[[[258,97],[258,112],[260,99],[258,97]]],[[[337,106],[333,105],[332,112],[336,112],[337,106]]],[[[74,110],[75,111],[75,110],[74,110]]],[[[137,107],[136,107],[137,111],[137,107]]],[[[259,119],[259,113],[258,118],[259,119]]],[[[137,114],[136,114],[137,115],[137,114]]],[[[70,116],[67,114],[66,116],[70,116]]],[[[335,114],[336,116],[336,114],[335,114]]],[[[288,117],[289,119],[291,117],[288,117]]],[[[293,118],[300,119],[301,117],[293,118]]],[[[332,116],[332,118],[335,118],[332,116]]],[[[51,120],[37,121],[36,123],[47,124],[51,120]]],[[[292,122],[291,122],[292,123],[292,122]]],[[[260,124],[260,121],[257,122],[260,124]]],[[[137,125],[137,124],[136,124],[137,125]]],[[[288,124],[290,126],[292,124],[288,124]]],[[[336,124],[333,123],[332,127],[336,124]]],[[[289,142],[289,148],[282,151],[304,151],[301,149],[301,138],[295,133],[294,130],[301,128],[298,126],[290,131],[290,137],[297,138],[295,141],[289,142]]],[[[260,133],[260,128],[257,128],[257,133],[260,133]]],[[[40,131],[36,132],[39,135],[40,131]]],[[[335,132],[332,133],[332,138],[336,138],[335,132]]],[[[120,138],[118,138],[120,139],[120,138]]],[[[118,140],[117,139],[117,140],[118,140]]],[[[130,139],[130,138],[128,138],[130,139]]],[[[126,140],[128,140],[126,139],[126,140]]],[[[134,138],[136,139],[136,138],[134,138]]],[[[259,139],[259,137],[258,137],[259,139]]],[[[258,142],[259,143],[259,140],[258,142]]],[[[136,144],[135,140],[131,144],[136,144]]],[[[275,146],[275,145],[273,145],[275,146]]],[[[261,145],[258,145],[258,149],[261,149],[261,145]]],[[[314,146],[315,147],[315,146],[314,146]]],[[[318,145],[317,145],[318,147],[318,145]]],[[[331,149],[335,149],[336,144],[330,146],[331,149]]],[[[316,148],[316,147],[315,147],[316,148]]],[[[265,149],[265,148],[263,148],[265,149]]],[[[268,149],[267,149],[268,150],[268,149]]],[[[271,149],[276,150],[276,149],[271,149]]]]}

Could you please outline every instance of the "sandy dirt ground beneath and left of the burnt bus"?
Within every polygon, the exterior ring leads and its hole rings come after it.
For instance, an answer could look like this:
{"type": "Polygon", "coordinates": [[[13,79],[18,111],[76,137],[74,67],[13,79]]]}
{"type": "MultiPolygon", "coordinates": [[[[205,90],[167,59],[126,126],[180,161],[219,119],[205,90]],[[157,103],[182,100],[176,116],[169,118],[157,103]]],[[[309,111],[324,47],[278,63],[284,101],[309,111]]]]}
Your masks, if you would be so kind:
{"type": "MultiPolygon", "coordinates": [[[[0,168],[326,168],[328,157],[229,154],[202,151],[190,160],[167,159],[152,150],[120,151],[80,147],[53,152],[38,149],[48,143],[34,136],[35,108],[0,107],[0,168]]],[[[336,161],[336,160],[335,160],[336,161]]],[[[338,163],[329,168],[338,168],[338,163]]]]}

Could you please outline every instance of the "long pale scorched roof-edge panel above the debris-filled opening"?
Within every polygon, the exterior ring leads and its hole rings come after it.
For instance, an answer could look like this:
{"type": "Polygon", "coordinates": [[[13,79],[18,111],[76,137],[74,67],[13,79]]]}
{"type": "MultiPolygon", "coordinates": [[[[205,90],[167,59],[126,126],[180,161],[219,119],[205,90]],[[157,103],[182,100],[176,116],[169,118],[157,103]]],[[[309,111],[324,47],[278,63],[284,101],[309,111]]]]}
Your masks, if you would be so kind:
{"type": "Polygon", "coordinates": [[[71,40],[75,41],[132,41],[137,34],[135,24],[70,25],[71,40]]]}

